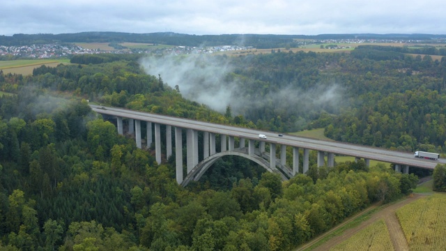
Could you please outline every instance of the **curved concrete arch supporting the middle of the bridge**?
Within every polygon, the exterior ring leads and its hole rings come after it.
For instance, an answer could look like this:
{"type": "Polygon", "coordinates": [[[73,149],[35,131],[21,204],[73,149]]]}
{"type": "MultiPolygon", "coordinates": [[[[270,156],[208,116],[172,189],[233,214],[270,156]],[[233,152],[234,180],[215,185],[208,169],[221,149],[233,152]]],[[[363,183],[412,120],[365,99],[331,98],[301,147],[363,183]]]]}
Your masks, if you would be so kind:
{"type": "Polygon", "coordinates": [[[187,174],[181,185],[185,187],[187,184],[190,183],[190,181],[199,181],[201,176],[203,176],[203,174],[209,169],[209,167],[211,167],[218,159],[228,155],[236,155],[247,158],[248,160],[252,160],[266,169],[268,172],[279,174],[282,178],[282,181],[288,181],[288,178],[286,178],[286,176],[282,174],[279,169],[270,167],[270,163],[268,162],[268,160],[261,158],[261,156],[259,155],[249,155],[243,152],[243,149],[234,149],[234,151],[223,151],[221,153],[215,153],[214,155],[210,155],[208,158],[201,160],[201,162],[199,162],[199,164],[195,166],[189,174],[187,174]]]}

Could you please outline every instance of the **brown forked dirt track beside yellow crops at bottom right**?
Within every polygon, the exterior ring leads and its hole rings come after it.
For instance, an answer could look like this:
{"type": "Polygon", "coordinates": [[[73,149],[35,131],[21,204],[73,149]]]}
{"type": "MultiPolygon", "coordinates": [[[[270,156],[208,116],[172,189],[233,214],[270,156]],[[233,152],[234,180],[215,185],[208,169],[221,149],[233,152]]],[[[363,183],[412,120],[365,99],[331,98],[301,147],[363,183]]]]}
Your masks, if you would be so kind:
{"type": "MultiPolygon", "coordinates": [[[[410,202],[413,202],[413,201],[415,201],[417,199],[420,199],[420,198],[422,198],[424,196],[426,196],[426,195],[415,194],[415,195],[413,195],[413,197],[407,197],[406,199],[398,201],[397,203],[390,204],[389,206],[387,206],[387,207],[383,208],[382,210],[380,210],[380,211],[374,213],[373,215],[371,215],[369,220],[366,220],[366,221],[362,222],[357,227],[354,227],[354,228],[351,228],[351,229],[346,229],[346,231],[344,231],[341,235],[335,236],[335,237],[331,238],[327,242],[323,243],[323,245],[318,246],[314,250],[317,250],[317,251],[330,250],[330,248],[332,248],[335,245],[341,243],[342,241],[345,241],[346,239],[350,238],[351,236],[353,236],[357,232],[361,231],[365,227],[367,227],[367,226],[371,225],[372,223],[376,222],[376,220],[379,220],[379,219],[382,219],[382,218],[385,220],[385,224],[387,225],[387,228],[389,229],[390,239],[391,239],[392,244],[394,246],[394,250],[409,250],[408,249],[408,243],[406,242],[406,238],[403,235],[403,231],[401,230],[401,226],[399,225],[399,222],[397,220],[397,216],[395,215],[395,211],[398,208],[400,208],[401,206],[409,204],[410,202]]],[[[376,207],[376,206],[374,206],[374,207],[376,207]]],[[[369,211],[369,210],[371,210],[370,207],[367,208],[367,211],[369,211]]],[[[355,215],[355,217],[349,219],[348,222],[350,222],[352,220],[355,220],[355,218],[359,217],[362,214],[363,213],[355,215]]],[[[314,239],[313,241],[311,241],[311,242],[301,246],[297,250],[306,250],[307,248],[311,247],[311,245],[316,243],[318,240],[320,240],[321,238],[323,238],[323,237],[327,236],[328,234],[332,233],[332,231],[334,231],[336,229],[339,229],[340,227],[344,226],[348,222],[344,222],[343,224],[341,224],[341,225],[339,225],[337,227],[334,227],[334,229],[331,229],[327,233],[323,234],[323,236],[319,236],[318,238],[314,239]]]]}

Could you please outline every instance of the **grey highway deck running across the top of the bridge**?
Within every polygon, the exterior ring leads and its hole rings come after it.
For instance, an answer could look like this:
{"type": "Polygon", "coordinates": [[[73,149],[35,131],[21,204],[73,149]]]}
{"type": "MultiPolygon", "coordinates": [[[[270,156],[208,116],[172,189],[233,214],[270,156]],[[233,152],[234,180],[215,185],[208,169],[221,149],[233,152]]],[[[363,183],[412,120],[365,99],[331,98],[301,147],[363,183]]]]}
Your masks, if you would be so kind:
{"type": "Polygon", "coordinates": [[[361,146],[357,144],[347,144],[341,142],[330,142],[306,137],[297,137],[284,134],[279,137],[276,132],[255,130],[250,128],[239,128],[236,126],[225,126],[203,121],[194,121],[173,116],[160,114],[150,114],[146,112],[136,112],[129,109],[116,107],[105,107],[102,105],[90,105],[94,112],[108,114],[112,116],[122,116],[123,118],[137,119],[139,121],[150,121],[162,125],[175,126],[180,128],[189,128],[203,132],[213,132],[215,134],[229,135],[233,137],[243,137],[245,139],[254,139],[264,142],[270,142],[280,145],[299,147],[303,149],[312,149],[316,151],[325,151],[339,155],[348,155],[369,160],[378,160],[390,162],[399,165],[408,165],[411,167],[420,167],[424,169],[433,169],[438,163],[445,164],[446,160],[425,160],[415,158],[413,153],[404,153],[400,151],[391,151],[371,146],[361,146]],[[259,134],[267,136],[267,139],[259,139],[259,134]]]}

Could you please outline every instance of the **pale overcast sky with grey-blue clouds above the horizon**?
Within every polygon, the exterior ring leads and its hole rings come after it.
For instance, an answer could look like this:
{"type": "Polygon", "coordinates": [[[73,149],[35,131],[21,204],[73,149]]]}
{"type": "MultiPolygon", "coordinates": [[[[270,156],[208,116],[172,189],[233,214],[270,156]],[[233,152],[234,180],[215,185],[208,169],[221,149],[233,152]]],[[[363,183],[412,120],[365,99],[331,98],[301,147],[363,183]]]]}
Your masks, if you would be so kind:
{"type": "Polygon", "coordinates": [[[4,0],[0,35],[445,34],[445,0],[4,0]]]}

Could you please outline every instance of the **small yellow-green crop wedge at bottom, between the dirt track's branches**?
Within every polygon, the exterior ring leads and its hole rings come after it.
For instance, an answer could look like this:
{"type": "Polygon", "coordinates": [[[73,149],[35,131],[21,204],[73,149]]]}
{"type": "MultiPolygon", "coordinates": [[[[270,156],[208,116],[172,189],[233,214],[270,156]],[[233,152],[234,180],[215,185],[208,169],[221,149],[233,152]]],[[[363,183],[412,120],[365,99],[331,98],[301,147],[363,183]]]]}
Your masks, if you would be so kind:
{"type": "Polygon", "coordinates": [[[332,250],[394,250],[384,220],[379,220],[334,246],[332,250]]]}

